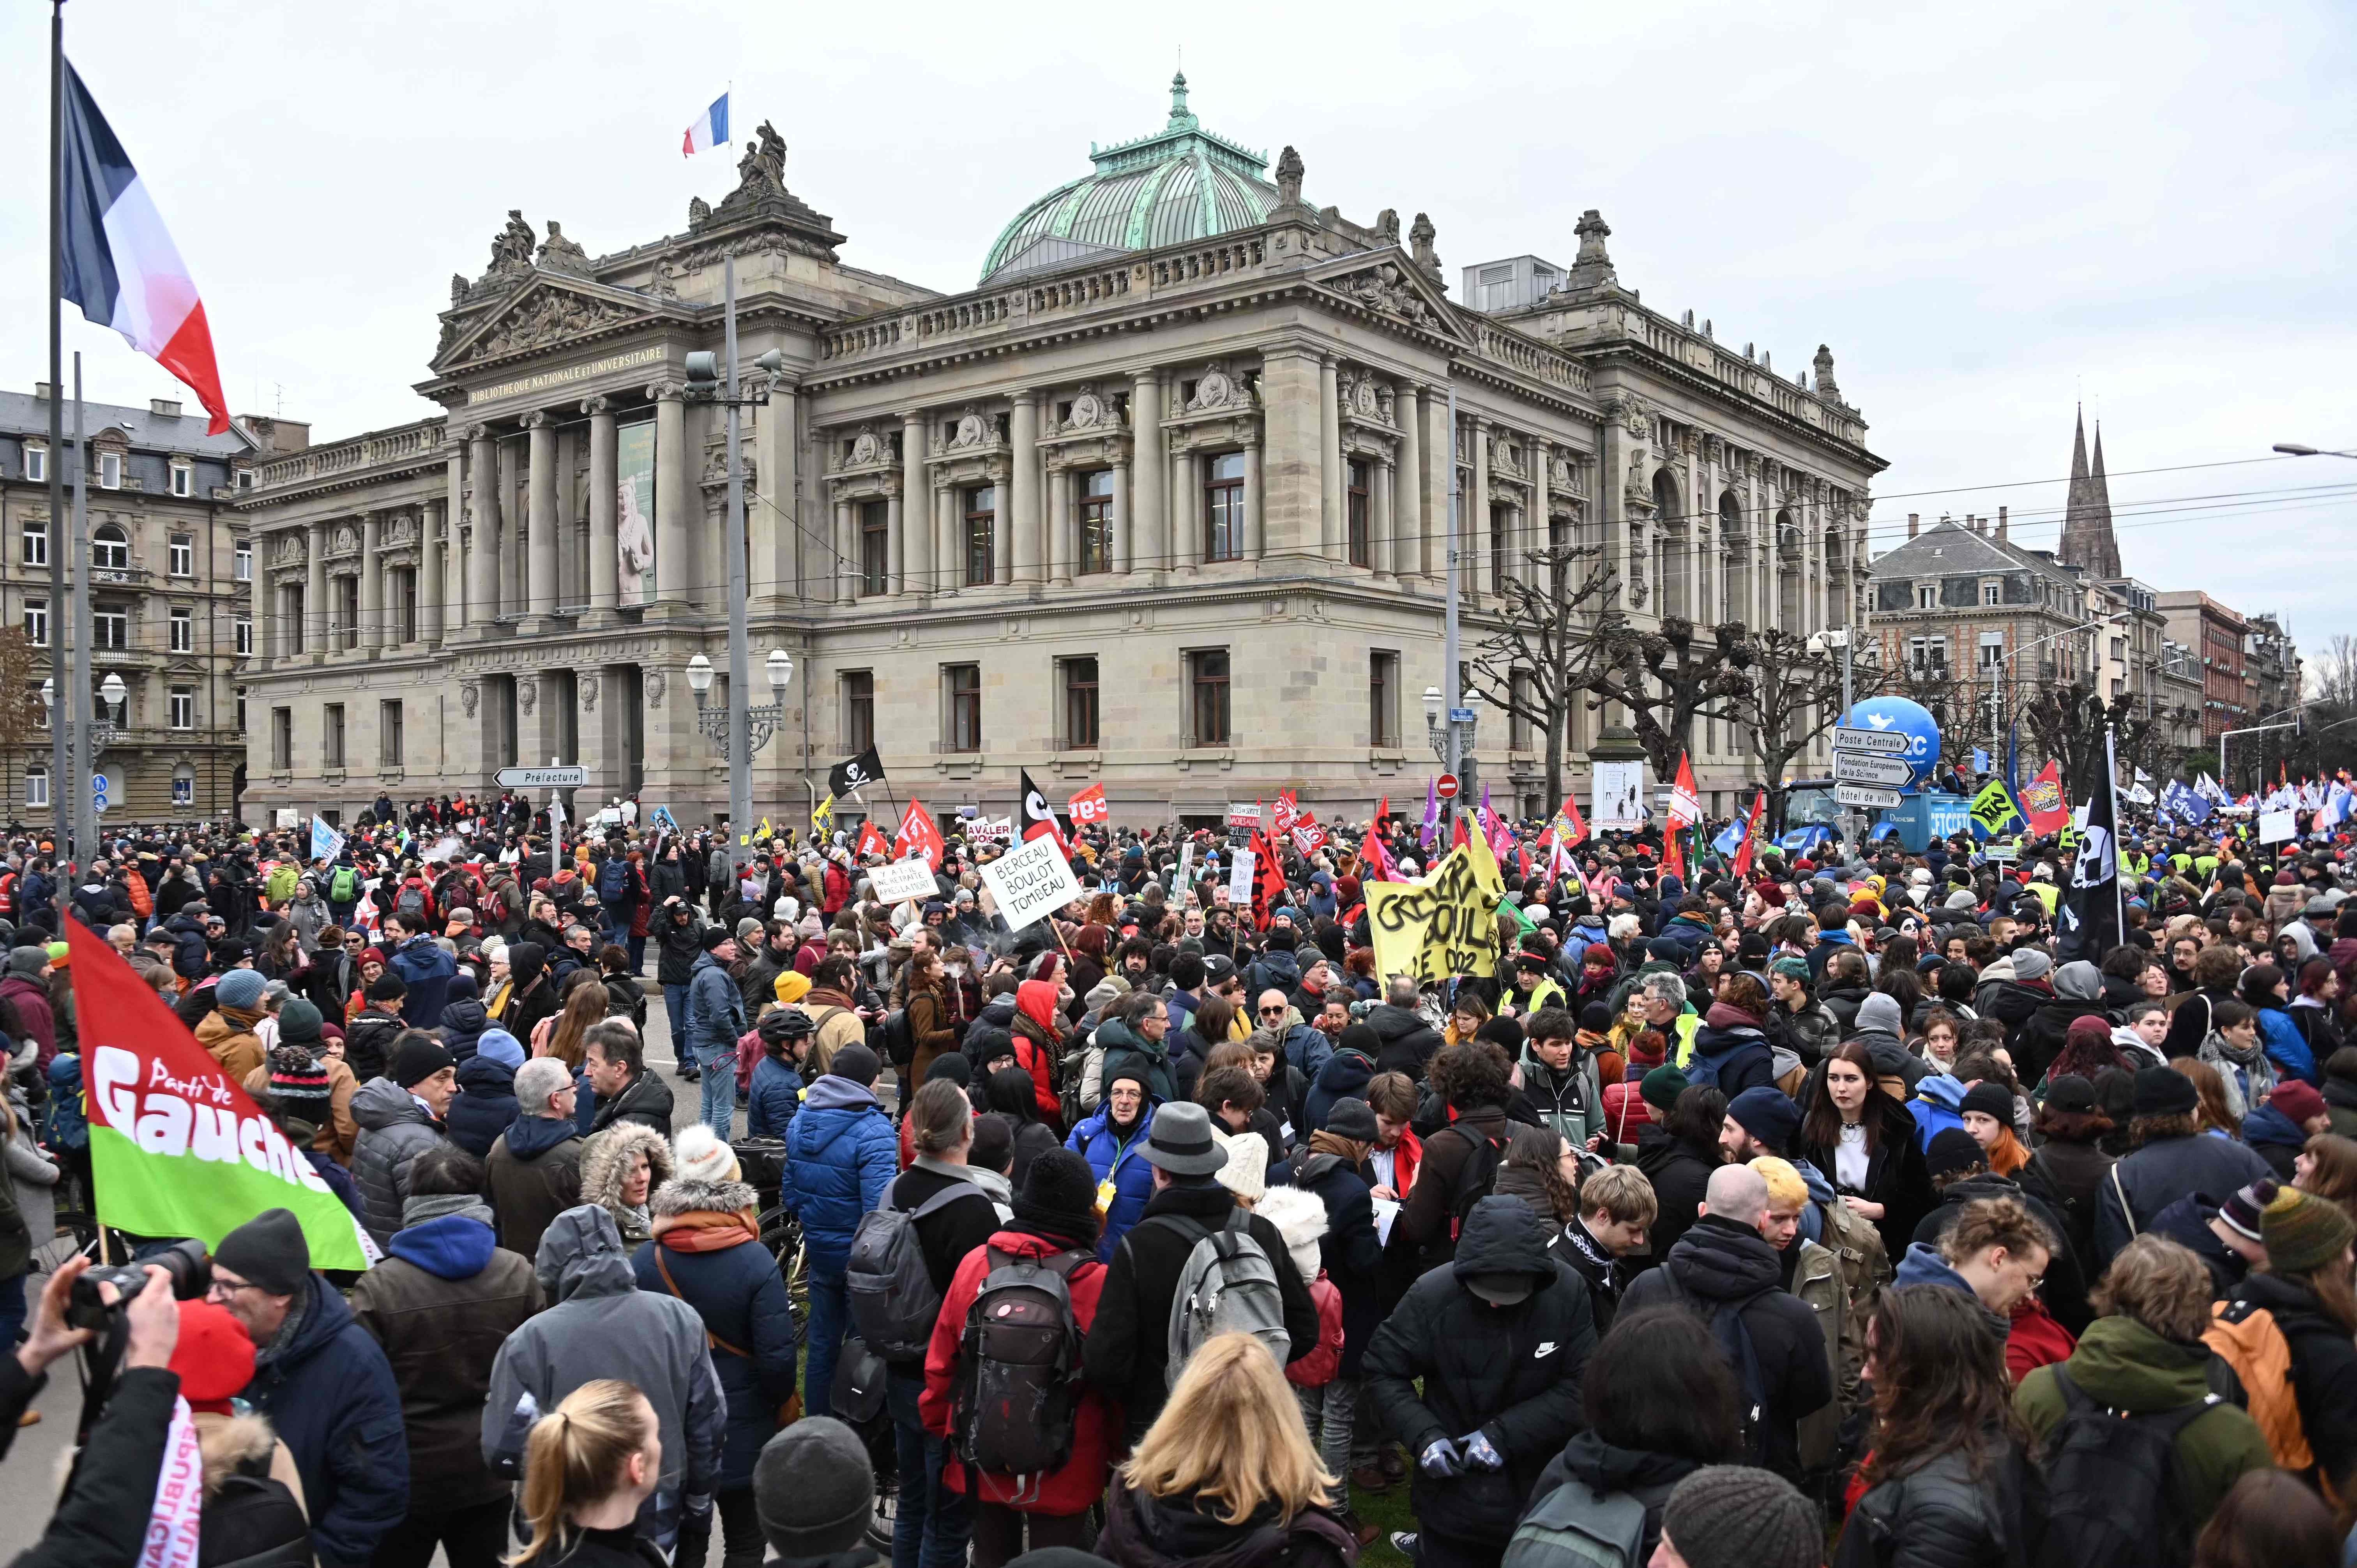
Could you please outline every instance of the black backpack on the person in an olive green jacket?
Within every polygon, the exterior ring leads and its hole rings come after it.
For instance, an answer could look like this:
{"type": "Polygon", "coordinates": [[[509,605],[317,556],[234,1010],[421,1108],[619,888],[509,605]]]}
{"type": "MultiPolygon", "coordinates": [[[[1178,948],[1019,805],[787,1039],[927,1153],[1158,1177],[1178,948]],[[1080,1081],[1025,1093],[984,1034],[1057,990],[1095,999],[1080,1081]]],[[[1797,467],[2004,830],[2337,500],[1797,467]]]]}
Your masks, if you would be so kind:
{"type": "Polygon", "coordinates": [[[2178,1434],[2218,1403],[2176,1410],[2105,1410],[2053,1368],[2065,1412],[2039,1460],[2046,1471],[2044,1568],[2183,1568],[2194,1526],[2178,1476],[2178,1434]]]}

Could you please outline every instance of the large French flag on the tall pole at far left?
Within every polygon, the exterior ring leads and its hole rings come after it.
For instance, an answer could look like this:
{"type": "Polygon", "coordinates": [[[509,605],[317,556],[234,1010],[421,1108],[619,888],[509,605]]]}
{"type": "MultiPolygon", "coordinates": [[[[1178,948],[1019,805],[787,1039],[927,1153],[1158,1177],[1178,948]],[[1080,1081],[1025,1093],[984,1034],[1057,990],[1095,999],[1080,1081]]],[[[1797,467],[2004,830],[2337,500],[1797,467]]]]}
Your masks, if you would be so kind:
{"type": "Polygon", "coordinates": [[[148,200],[139,170],[123,153],[82,78],[66,66],[66,224],[61,299],[113,328],[177,375],[212,415],[210,434],[229,429],[222,368],[212,358],[205,302],[148,200]]]}

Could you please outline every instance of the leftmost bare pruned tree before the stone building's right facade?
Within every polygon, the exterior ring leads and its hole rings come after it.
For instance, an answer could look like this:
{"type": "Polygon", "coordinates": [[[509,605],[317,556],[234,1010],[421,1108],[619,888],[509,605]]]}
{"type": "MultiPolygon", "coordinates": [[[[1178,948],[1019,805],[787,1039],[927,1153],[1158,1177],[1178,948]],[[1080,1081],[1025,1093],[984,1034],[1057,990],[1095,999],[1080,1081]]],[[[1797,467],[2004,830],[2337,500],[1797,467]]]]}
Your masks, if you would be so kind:
{"type": "Polygon", "coordinates": [[[1466,684],[1546,736],[1546,804],[1553,809],[1563,799],[1572,705],[1603,651],[1593,622],[1619,580],[1600,549],[1549,545],[1532,549],[1527,561],[1527,573],[1506,578],[1501,622],[1473,653],[1466,684]]]}

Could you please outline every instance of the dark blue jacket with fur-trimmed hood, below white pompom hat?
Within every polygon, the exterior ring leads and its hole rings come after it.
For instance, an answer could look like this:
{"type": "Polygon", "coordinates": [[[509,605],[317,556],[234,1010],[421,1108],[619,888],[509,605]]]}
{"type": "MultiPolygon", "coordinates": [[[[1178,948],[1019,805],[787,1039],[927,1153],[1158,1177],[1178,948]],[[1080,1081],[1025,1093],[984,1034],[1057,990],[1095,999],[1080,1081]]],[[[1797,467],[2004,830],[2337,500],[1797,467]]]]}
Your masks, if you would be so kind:
{"type": "Polygon", "coordinates": [[[721,1443],[721,1490],[752,1485],[752,1462],[778,1431],[778,1405],[794,1394],[794,1353],[801,1327],[785,1297],[778,1259],[761,1243],[742,1240],[714,1252],[665,1247],[662,1236],[698,1240],[705,1231],[679,1226],[684,1214],[728,1217],[757,1207],[742,1181],[669,1181],[651,1200],[655,1240],[629,1259],[639,1290],[676,1294],[712,1335],[712,1370],[728,1396],[728,1436],[721,1443]],[[667,1221],[672,1221],[667,1226],[667,1221]],[[669,1285],[665,1283],[669,1271],[669,1285]],[[672,1290],[676,1285],[676,1290],[672,1290]],[[735,1346],[735,1351],[726,1349],[735,1346]]]}

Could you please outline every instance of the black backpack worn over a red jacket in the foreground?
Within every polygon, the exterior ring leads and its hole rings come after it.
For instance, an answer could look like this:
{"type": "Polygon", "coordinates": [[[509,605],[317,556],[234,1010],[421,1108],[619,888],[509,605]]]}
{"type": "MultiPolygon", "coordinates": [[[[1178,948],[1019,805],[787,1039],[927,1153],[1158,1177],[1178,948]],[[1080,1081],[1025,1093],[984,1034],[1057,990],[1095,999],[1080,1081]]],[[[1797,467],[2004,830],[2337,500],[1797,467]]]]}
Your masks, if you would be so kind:
{"type": "Polygon", "coordinates": [[[1016,1257],[988,1247],[983,1287],[957,1342],[950,1434],[957,1457],[990,1476],[1044,1478],[1072,1457],[1080,1410],[1080,1320],[1072,1271],[1094,1252],[1016,1257]]]}

